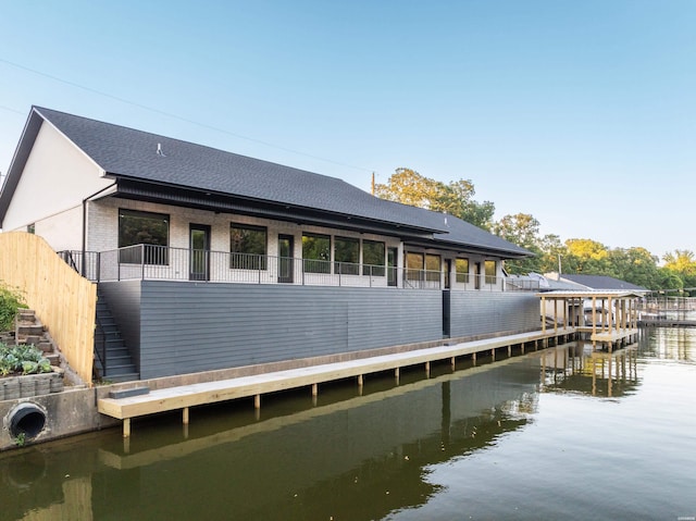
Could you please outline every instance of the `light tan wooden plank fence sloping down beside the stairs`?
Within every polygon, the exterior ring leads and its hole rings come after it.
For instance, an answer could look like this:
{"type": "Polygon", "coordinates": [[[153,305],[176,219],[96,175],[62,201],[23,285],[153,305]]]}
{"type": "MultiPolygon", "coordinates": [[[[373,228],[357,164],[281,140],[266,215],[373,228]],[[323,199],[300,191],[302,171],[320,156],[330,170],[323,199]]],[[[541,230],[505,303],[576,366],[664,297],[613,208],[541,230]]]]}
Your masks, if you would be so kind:
{"type": "Polygon", "coordinates": [[[24,232],[0,233],[0,283],[20,290],[71,368],[91,384],[97,286],[24,232]]]}

